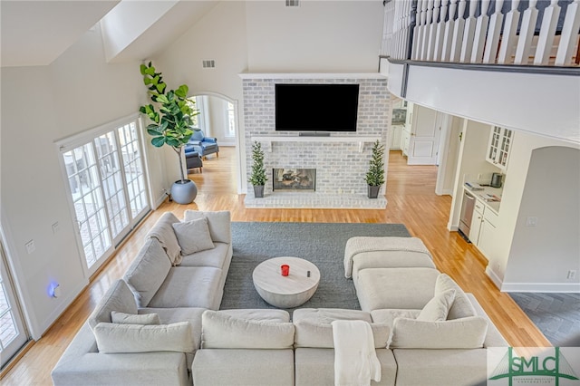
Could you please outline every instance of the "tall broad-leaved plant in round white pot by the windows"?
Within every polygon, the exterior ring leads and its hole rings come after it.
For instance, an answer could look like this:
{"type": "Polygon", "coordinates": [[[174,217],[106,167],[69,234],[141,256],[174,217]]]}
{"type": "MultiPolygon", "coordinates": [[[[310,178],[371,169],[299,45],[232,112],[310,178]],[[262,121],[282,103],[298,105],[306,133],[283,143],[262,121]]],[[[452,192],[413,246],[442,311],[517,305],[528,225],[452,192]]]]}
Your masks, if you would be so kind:
{"type": "Polygon", "coordinates": [[[149,87],[150,99],[158,105],[159,111],[153,104],[140,106],[139,111],[146,114],[152,123],[147,126],[147,132],[153,137],[151,144],[157,148],[168,145],[179,158],[181,179],[171,186],[171,198],[178,204],[189,204],[197,194],[198,187],[186,179],[183,172],[183,147],[193,134],[191,118],[199,111],[193,108],[193,101],[189,101],[189,87],[182,84],[177,90],[167,90],[161,72],[155,72],[151,63],[140,65],[143,82],[149,87]]]}

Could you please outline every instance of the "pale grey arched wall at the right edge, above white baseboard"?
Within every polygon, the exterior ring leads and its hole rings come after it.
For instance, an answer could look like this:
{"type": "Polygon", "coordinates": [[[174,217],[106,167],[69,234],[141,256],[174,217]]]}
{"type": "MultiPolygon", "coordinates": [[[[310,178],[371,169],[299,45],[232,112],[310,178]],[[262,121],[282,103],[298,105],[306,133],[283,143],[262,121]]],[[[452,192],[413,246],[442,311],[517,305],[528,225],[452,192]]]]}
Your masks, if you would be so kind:
{"type": "Polygon", "coordinates": [[[532,150],[504,289],[530,285],[580,291],[580,150],[532,150]],[[536,217],[536,227],[527,227],[536,217]],[[568,270],[575,278],[568,279],[568,270]]]}

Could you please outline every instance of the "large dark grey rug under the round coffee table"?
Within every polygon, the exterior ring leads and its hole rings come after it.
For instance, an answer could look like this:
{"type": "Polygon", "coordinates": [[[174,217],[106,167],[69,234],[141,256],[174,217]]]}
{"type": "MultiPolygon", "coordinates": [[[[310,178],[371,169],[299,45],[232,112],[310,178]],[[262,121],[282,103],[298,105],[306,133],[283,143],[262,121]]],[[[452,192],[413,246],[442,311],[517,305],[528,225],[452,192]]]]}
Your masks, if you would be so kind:
{"type": "Polygon", "coordinates": [[[257,294],[252,273],[267,258],[295,256],[314,263],[321,274],[314,296],[301,307],[360,310],[353,280],[344,277],[344,246],[353,236],[410,235],[401,224],[233,222],[234,256],[220,308],[275,308],[257,294]]]}

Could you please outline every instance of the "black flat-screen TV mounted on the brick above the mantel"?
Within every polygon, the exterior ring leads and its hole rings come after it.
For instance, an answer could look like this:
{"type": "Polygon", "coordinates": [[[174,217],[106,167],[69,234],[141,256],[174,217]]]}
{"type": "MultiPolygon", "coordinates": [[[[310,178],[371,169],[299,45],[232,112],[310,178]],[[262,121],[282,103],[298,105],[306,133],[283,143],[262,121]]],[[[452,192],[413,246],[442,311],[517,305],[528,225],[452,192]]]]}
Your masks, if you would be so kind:
{"type": "Polygon", "coordinates": [[[356,131],[358,84],[275,84],[275,130],[356,131]]]}

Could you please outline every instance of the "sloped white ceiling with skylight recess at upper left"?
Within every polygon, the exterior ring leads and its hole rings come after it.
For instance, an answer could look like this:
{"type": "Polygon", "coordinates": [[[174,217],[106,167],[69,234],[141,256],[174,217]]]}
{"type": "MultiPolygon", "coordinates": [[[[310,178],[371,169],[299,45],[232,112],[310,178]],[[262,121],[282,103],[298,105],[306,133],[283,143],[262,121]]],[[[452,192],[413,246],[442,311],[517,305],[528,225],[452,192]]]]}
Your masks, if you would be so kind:
{"type": "Polygon", "coordinates": [[[217,4],[217,0],[2,0],[0,62],[3,67],[48,65],[100,22],[109,62],[140,61],[160,53],[217,4]]]}

